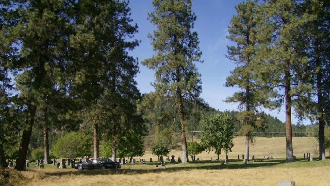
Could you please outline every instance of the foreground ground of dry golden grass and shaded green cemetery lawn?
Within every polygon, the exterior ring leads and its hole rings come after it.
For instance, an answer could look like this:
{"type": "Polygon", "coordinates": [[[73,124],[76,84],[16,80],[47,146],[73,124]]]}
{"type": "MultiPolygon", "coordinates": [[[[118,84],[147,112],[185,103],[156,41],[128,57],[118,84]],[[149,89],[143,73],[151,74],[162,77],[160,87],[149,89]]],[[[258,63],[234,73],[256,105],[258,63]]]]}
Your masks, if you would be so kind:
{"type": "Polygon", "coordinates": [[[29,178],[29,186],[73,185],[277,185],[279,180],[294,180],[297,186],[330,186],[330,159],[307,162],[297,159],[286,163],[285,159],[265,160],[245,165],[242,161],[198,161],[169,163],[166,168],[158,163],[124,164],[119,170],[59,169],[51,165],[44,169],[30,167],[22,173],[29,178]]]}

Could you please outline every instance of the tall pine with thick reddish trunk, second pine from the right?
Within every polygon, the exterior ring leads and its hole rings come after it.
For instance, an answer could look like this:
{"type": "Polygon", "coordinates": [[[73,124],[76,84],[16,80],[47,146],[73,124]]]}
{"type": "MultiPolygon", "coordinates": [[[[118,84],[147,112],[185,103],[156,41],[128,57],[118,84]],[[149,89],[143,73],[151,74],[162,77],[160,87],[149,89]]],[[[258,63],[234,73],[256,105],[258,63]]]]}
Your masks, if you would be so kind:
{"type": "Polygon", "coordinates": [[[258,47],[258,58],[264,64],[258,69],[260,81],[278,93],[273,97],[285,105],[286,160],[294,161],[292,145],[292,107],[299,99],[304,84],[299,81],[307,59],[297,48],[301,45],[300,26],[313,19],[300,15],[295,0],[265,0],[262,4],[261,33],[258,37],[271,38],[258,47]],[[272,33],[271,36],[268,33],[272,33]]]}

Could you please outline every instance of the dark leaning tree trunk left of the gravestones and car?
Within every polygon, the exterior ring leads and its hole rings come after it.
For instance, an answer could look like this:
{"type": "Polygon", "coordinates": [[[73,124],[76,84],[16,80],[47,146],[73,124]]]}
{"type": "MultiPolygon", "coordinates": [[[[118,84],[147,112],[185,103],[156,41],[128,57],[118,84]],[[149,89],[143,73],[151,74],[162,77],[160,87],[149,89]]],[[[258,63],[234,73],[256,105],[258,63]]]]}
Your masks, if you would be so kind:
{"type": "Polygon", "coordinates": [[[26,161],[27,150],[29,148],[35,114],[36,114],[36,106],[31,105],[29,108],[29,113],[26,116],[26,120],[25,120],[26,126],[23,130],[22,139],[18,149],[18,158],[16,160],[16,166],[15,166],[15,169],[18,171],[24,169],[24,163],[26,161]]]}

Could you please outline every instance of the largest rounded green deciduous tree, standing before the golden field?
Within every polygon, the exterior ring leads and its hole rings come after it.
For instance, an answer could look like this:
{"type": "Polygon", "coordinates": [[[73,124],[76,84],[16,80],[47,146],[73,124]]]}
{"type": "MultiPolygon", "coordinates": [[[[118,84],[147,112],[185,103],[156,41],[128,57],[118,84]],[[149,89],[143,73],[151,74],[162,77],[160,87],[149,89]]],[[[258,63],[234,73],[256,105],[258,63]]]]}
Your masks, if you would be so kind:
{"type": "Polygon", "coordinates": [[[234,146],[234,123],[231,116],[227,113],[215,114],[200,121],[201,125],[201,144],[207,151],[215,150],[217,159],[221,151],[226,154],[231,152],[234,146]]]}

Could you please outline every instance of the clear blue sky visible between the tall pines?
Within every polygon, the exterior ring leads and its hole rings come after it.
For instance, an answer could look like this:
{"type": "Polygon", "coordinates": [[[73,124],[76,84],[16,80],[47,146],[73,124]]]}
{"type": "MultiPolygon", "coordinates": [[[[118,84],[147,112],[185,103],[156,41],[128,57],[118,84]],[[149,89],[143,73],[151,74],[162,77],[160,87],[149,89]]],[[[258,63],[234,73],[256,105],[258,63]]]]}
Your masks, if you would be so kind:
{"type": "MultiPolygon", "coordinates": [[[[156,27],[147,20],[148,12],[153,11],[152,0],[131,0],[131,18],[137,23],[139,32],[135,38],[141,40],[140,46],[130,51],[130,55],[139,59],[139,62],[151,57],[154,53],[150,44],[148,33],[152,33],[156,27]]],[[[230,75],[230,70],[235,68],[233,62],[225,57],[227,45],[233,45],[227,38],[227,28],[230,19],[236,14],[235,5],[242,0],[192,0],[192,10],[197,16],[194,30],[197,31],[200,41],[200,50],[203,52],[204,63],[197,64],[201,74],[203,92],[201,97],[211,107],[224,110],[237,110],[237,105],[223,102],[237,88],[224,87],[225,79],[230,75]]],[[[140,73],[137,75],[138,88],[141,93],[149,93],[154,90],[150,85],[154,81],[154,71],[143,65],[140,66],[140,73]]],[[[266,113],[276,116],[281,121],[285,120],[283,109],[266,113]]],[[[293,119],[295,124],[297,119],[293,119]]],[[[307,123],[306,123],[307,124],[307,123]]]]}

